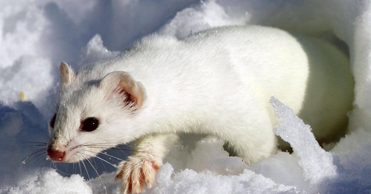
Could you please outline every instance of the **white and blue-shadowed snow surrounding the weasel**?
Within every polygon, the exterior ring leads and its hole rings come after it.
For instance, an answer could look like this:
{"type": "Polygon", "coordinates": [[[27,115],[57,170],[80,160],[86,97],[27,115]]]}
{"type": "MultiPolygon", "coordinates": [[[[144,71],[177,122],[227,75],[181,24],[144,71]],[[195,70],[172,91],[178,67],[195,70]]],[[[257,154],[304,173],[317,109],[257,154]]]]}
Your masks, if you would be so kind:
{"type": "MultiPolygon", "coordinates": [[[[171,151],[158,171],[157,184],[147,191],[370,193],[370,20],[368,0],[2,0],[0,192],[119,192],[114,167],[107,163],[92,161],[98,177],[87,162],[86,170],[82,164],[53,164],[45,160],[43,150],[26,158],[45,146],[23,148],[36,144],[14,142],[47,141],[43,133],[47,134],[47,119],[54,111],[61,61],[76,69],[115,56],[152,32],[182,38],[211,27],[252,23],[318,36],[349,53],[356,81],[349,134],[326,152],[314,141],[310,127],[272,98],[281,121],[275,132],[292,145],[293,154],[278,152],[246,165],[241,158],[229,157],[219,139],[198,138],[171,151]]],[[[107,153],[125,158],[122,152],[107,153]]],[[[111,157],[111,162],[118,160],[111,157]]]]}

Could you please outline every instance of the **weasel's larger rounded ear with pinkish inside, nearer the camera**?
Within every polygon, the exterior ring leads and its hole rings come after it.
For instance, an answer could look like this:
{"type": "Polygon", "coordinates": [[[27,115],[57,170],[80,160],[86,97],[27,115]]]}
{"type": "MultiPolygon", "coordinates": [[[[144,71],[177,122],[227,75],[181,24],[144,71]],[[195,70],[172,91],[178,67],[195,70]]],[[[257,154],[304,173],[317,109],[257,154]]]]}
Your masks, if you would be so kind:
{"type": "Polygon", "coordinates": [[[117,71],[108,73],[101,82],[99,82],[99,87],[108,94],[115,91],[119,93],[126,92],[128,98],[131,99],[137,107],[143,104],[144,91],[142,84],[136,82],[127,72],[117,71]]]}

